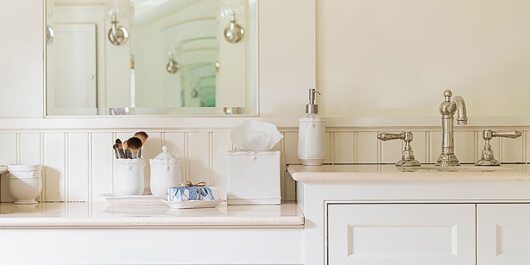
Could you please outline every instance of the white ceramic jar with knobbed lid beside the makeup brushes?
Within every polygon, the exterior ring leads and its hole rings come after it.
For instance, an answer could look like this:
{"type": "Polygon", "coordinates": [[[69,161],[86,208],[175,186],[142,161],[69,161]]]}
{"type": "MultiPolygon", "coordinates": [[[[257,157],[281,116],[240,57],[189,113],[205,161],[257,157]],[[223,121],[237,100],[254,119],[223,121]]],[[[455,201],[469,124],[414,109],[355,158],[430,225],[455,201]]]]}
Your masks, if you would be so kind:
{"type": "Polygon", "coordinates": [[[162,153],[149,159],[151,164],[151,193],[153,195],[167,195],[166,188],[175,187],[182,183],[180,173],[180,157],[167,152],[167,146],[162,146],[162,153]]]}

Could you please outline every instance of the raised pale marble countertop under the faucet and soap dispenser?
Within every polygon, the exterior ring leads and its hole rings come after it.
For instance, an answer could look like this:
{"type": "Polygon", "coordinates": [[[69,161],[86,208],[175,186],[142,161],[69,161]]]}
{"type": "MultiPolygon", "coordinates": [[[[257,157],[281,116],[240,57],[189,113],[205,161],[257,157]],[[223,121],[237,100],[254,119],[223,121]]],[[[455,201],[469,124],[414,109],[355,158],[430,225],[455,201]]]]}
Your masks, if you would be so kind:
{"type": "Polygon", "coordinates": [[[530,180],[530,165],[500,166],[421,165],[401,167],[393,164],[341,164],[322,166],[289,165],[296,181],[507,181],[530,180]]]}

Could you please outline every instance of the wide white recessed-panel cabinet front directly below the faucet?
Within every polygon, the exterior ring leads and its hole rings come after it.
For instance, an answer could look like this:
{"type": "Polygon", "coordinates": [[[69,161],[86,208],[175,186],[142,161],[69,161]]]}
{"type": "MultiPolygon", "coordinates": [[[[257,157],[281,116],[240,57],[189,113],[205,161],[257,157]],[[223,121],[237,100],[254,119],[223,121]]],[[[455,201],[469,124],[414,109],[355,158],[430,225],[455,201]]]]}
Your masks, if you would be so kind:
{"type": "Polygon", "coordinates": [[[475,264],[474,204],[328,205],[328,262],[475,264]]]}

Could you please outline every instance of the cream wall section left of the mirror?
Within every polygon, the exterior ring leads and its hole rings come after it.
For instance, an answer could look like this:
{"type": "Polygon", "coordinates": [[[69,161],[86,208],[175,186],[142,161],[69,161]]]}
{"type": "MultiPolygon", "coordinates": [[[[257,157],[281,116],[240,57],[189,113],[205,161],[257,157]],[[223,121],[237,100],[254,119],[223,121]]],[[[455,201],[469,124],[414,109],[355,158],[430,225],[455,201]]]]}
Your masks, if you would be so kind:
{"type": "Polygon", "coordinates": [[[40,0],[10,1],[9,8],[0,8],[6,26],[0,41],[0,117],[43,116],[42,13],[40,0]]]}

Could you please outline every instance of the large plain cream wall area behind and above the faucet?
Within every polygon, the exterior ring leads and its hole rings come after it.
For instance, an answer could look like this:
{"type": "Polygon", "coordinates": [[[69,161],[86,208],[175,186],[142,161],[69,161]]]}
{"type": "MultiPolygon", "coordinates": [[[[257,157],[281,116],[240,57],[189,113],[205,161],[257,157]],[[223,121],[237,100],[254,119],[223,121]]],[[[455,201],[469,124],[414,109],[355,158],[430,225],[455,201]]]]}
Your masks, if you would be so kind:
{"type": "Polygon", "coordinates": [[[528,116],[530,1],[317,0],[325,116],[528,116]]]}

